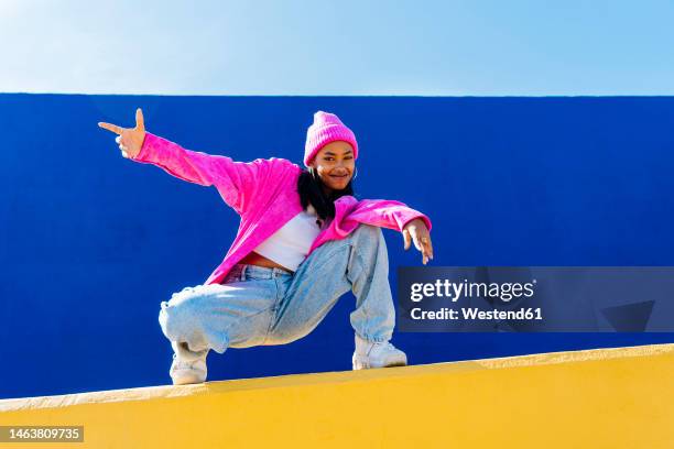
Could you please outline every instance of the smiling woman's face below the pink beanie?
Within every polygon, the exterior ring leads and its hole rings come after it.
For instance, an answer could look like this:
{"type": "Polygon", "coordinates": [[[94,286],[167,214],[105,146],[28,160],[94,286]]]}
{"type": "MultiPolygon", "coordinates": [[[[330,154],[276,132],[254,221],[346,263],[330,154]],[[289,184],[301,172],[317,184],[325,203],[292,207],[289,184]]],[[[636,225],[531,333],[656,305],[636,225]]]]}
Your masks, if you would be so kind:
{"type": "Polygon", "coordinates": [[[349,184],[356,169],[354,149],[345,141],[330,142],[318,151],[309,165],[327,188],[341,190],[349,184]]]}

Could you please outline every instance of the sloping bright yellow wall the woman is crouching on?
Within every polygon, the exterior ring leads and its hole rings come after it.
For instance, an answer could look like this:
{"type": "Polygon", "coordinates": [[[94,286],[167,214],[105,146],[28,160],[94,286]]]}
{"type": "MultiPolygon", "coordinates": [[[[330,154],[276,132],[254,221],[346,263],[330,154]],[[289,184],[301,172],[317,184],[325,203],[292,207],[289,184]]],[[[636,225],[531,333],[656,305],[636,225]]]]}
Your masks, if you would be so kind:
{"type": "Polygon", "coordinates": [[[0,401],[74,448],[668,448],[674,344],[0,401]]]}

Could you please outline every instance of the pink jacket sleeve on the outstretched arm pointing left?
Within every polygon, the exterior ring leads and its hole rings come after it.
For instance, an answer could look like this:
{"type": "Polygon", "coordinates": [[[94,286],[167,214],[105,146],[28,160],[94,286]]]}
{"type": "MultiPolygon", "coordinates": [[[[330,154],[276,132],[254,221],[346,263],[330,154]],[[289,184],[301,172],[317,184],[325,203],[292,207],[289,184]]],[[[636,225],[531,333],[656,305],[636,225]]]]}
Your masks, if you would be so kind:
{"type": "Polygon", "coordinates": [[[141,151],[131,157],[135,162],[152,164],[166,173],[202,186],[215,186],[218,193],[239,215],[256,195],[258,180],[268,161],[235,162],[230,157],[210,155],[182,147],[177,143],[145,133],[141,151]]]}

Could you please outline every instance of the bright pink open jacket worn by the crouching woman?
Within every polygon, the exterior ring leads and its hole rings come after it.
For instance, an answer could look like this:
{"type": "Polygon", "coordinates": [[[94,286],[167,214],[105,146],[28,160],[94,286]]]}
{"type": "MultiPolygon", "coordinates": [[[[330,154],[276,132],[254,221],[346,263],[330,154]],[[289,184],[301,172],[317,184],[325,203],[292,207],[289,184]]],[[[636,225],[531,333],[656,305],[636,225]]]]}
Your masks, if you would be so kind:
{"type": "MultiPolygon", "coordinates": [[[[297,193],[302,168],[284,158],[235,162],[227,156],[186,150],[146,132],[141,151],[132,160],[156,165],[191,183],[215,186],[241,217],[233,243],[205,284],[219,284],[232,266],[303,210],[297,193]]],[[[316,237],[308,254],[329,240],[346,238],[359,223],[402,232],[415,218],[424,220],[431,230],[428,217],[400,201],[344,196],[335,201],[335,218],[316,237]]]]}

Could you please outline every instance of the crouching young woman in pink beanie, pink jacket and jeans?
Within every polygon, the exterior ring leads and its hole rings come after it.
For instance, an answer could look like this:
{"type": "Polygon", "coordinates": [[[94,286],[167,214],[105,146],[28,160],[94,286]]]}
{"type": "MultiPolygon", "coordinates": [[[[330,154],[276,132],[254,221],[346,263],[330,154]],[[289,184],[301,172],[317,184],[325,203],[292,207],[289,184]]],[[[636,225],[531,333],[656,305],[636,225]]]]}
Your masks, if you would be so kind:
{"type": "Polygon", "coordinates": [[[395,308],[381,228],[433,259],[431,220],[394,200],[354,197],[358,143],[337,116],[314,114],[304,165],[271,157],[235,162],[191,151],[135,128],[99,122],[118,134],[122,156],[215,186],[240,216],[237,237],[203,285],[161,303],[159,321],[174,350],[174,384],[206,380],[209,350],[284,344],[308,335],[348,291],[356,296],[354,370],[405,365],[389,342],[395,308]]]}

